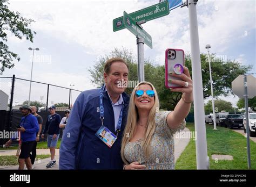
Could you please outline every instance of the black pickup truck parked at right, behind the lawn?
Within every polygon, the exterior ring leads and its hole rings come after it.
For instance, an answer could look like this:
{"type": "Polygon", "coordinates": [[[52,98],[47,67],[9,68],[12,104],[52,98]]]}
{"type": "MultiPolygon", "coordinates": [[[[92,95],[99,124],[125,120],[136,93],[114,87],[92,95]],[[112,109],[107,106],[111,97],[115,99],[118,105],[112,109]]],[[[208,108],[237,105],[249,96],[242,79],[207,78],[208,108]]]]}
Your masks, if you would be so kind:
{"type": "Polygon", "coordinates": [[[224,126],[230,129],[237,127],[240,129],[243,125],[244,118],[241,114],[228,114],[223,120],[224,126]]]}

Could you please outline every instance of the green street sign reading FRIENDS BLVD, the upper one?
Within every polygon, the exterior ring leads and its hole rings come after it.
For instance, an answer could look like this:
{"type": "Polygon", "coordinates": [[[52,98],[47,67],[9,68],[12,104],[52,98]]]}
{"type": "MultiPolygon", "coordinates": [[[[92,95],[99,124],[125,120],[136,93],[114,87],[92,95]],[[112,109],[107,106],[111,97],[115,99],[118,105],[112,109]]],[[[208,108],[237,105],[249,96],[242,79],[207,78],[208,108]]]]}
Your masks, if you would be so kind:
{"type": "MultiPolygon", "coordinates": [[[[152,6],[149,6],[145,9],[138,10],[136,12],[132,12],[129,15],[133,20],[136,21],[150,21],[152,19],[156,19],[162,16],[169,15],[169,4],[168,1],[161,2],[152,6]]],[[[119,31],[125,28],[123,16],[113,19],[113,31],[119,31]]]]}

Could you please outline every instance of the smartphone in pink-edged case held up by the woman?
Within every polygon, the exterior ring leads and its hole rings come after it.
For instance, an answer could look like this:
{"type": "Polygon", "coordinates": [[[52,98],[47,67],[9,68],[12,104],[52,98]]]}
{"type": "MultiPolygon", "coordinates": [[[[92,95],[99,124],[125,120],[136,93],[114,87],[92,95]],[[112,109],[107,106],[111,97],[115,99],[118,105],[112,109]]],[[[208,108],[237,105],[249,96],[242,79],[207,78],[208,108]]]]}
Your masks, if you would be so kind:
{"type": "Polygon", "coordinates": [[[185,65],[185,53],[183,49],[166,49],[165,51],[165,87],[166,88],[182,88],[180,85],[173,84],[168,80],[175,79],[179,80],[178,77],[174,77],[169,75],[169,72],[172,71],[174,73],[174,66],[176,64],[185,65]]]}

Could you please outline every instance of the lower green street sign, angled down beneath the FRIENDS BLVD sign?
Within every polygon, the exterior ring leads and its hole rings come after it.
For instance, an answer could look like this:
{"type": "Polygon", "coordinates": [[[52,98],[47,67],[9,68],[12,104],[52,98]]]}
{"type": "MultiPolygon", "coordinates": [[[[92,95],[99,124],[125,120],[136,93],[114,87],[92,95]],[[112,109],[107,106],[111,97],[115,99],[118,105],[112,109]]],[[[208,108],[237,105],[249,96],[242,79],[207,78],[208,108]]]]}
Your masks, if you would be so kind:
{"type": "Polygon", "coordinates": [[[132,19],[132,17],[127,14],[124,11],[124,26],[131,31],[134,35],[139,35],[139,37],[144,38],[144,42],[147,46],[149,46],[150,48],[152,47],[152,38],[151,35],[149,35],[149,33],[147,33],[146,31],[144,31],[142,28],[140,28],[136,22],[132,19]]]}

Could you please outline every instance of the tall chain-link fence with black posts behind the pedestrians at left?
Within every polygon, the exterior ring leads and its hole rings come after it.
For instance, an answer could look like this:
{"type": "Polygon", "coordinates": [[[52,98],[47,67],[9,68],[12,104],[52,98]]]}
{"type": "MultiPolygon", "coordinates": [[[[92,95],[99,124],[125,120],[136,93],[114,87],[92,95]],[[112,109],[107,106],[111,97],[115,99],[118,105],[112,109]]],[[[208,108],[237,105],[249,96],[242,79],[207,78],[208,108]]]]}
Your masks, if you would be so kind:
{"type": "MultiPolygon", "coordinates": [[[[8,130],[13,125],[12,120],[21,119],[21,116],[16,116],[15,110],[28,103],[29,95],[30,105],[41,107],[41,111],[43,111],[56,103],[66,108],[72,107],[80,92],[80,90],[58,85],[17,78],[15,75],[12,77],[2,76],[0,77],[0,111],[5,112],[0,113],[0,125],[8,130]]],[[[15,122],[15,124],[17,123],[15,122]]]]}

